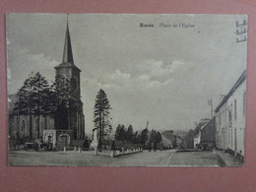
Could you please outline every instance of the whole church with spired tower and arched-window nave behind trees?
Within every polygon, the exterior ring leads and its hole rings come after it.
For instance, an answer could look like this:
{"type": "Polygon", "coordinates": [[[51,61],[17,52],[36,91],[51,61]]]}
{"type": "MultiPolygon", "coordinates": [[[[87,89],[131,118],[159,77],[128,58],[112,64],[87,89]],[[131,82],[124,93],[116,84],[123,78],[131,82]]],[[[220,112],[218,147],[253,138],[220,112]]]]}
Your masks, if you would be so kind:
{"type": "Polygon", "coordinates": [[[22,143],[41,139],[47,142],[51,138],[53,146],[59,148],[75,146],[85,139],[85,116],[81,100],[81,70],[74,64],[69,26],[67,23],[62,63],[55,66],[55,76],[70,82],[72,96],[68,102],[60,106],[52,115],[12,114],[19,96],[8,96],[9,137],[22,143]],[[38,122],[39,121],[39,122],[38,122]],[[39,126],[38,126],[39,125],[39,126]],[[32,129],[30,128],[32,127],[32,129]]]}

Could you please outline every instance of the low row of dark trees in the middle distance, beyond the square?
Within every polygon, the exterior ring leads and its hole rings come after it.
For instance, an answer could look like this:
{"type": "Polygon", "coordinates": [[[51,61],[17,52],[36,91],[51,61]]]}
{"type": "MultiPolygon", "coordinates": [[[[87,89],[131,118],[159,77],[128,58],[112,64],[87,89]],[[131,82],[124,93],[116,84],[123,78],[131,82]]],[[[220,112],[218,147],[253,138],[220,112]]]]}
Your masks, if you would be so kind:
{"type": "Polygon", "coordinates": [[[154,129],[150,132],[148,128],[142,130],[141,133],[138,131],[134,132],[132,125],[125,128],[124,125],[119,124],[116,127],[114,137],[116,141],[127,141],[133,144],[146,144],[147,142],[159,144],[161,142],[160,132],[154,129]]]}

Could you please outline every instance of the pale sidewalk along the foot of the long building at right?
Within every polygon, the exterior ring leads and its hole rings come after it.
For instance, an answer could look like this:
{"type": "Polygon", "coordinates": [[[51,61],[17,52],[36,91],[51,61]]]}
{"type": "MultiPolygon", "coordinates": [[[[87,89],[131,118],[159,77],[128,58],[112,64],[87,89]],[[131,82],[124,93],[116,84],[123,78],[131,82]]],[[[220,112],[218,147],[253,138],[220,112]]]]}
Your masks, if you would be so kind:
{"type": "Polygon", "coordinates": [[[224,151],[214,150],[213,153],[217,154],[222,160],[224,160],[226,166],[244,166],[243,161],[235,159],[228,153],[224,153],[224,151]]]}

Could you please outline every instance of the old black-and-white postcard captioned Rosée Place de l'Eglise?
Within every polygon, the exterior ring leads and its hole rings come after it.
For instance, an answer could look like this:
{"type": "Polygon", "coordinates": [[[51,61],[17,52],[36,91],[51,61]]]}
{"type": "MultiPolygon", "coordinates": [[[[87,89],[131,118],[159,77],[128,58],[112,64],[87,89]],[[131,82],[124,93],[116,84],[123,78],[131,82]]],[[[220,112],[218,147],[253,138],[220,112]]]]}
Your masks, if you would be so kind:
{"type": "Polygon", "coordinates": [[[9,164],[243,166],[247,23],[7,14],[9,164]]]}

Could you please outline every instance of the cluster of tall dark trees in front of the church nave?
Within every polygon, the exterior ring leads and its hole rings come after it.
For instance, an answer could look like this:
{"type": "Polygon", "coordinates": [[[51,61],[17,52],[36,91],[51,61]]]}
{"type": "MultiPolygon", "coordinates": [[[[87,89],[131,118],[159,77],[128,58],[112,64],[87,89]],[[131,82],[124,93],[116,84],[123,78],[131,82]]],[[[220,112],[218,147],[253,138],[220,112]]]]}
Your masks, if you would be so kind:
{"type": "MultiPolygon", "coordinates": [[[[32,115],[37,116],[39,130],[40,115],[54,116],[54,112],[61,103],[72,99],[71,82],[62,76],[57,76],[52,85],[39,72],[31,73],[18,90],[19,100],[15,103],[10,115],[30,115],[30,138],[32,138],[32,115]]],[[[37,131],[37,137],[39,132],[37,131]]]]}

